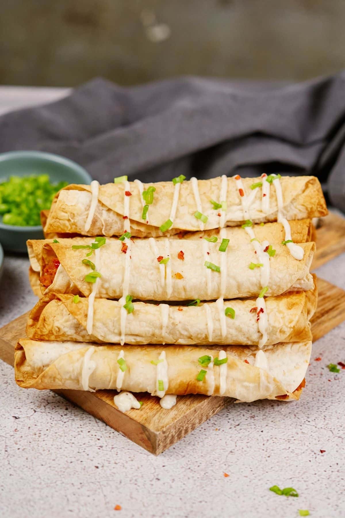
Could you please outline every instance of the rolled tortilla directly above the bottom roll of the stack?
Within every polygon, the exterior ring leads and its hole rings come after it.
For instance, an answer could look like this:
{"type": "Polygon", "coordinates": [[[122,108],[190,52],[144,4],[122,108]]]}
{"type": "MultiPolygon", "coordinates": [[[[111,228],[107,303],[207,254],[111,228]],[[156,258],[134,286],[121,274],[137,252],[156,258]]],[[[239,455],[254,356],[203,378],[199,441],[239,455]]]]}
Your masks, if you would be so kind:
{"type": "MultiPolygon", "coordinates": [[[[317,289],[265,299],[268,318],[266,344],[311,340],[309,319],[317,305],[317,289]]],[[[255,299],[224,301],[221,312],[231,307],[235,318],[226,318],[222,333],[220,309],[212,302],[200,306],[134,303],[127,315],[125,342],[175,345],[258,345],[262,335],[255,299]]],[[[88,299],[73,302],[73,295],[51,294],[31,311],[26,334],[35,340],[120,343],[121,304],[95,299],[92,334],[88,334],[88,299]]],[[[260,314],[259,314],[260,317],[260,314]]]]}

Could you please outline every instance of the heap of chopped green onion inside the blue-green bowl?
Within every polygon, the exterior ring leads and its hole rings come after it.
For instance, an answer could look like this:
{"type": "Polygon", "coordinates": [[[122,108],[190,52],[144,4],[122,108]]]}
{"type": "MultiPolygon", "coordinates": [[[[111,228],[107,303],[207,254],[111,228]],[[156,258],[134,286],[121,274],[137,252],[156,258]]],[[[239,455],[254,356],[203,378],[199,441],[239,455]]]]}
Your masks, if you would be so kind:
{"type": "Polygon", "coordinates": [[[68,182],[50,183],[48,175],[10,176],[0,183],[0,215],[5,225],[40,225],[40,211],[50,209],[54,195],[68,182]]]}

